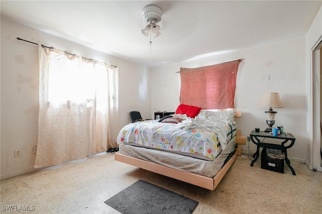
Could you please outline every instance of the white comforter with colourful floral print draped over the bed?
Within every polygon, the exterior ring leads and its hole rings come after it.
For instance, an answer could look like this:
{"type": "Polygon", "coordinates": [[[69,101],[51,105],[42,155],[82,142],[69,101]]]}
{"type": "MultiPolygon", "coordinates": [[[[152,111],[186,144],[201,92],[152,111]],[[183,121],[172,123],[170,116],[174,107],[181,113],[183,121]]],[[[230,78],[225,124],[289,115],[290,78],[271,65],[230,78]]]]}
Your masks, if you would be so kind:
{"type": "Polygon", "coordinates": [[[235,137],[234,122],[189,119],[183,123],[157,121],[131,123],[123,127],[117,143],[135,143],[155,149],[197,153],[215,159],[235,137]]]}

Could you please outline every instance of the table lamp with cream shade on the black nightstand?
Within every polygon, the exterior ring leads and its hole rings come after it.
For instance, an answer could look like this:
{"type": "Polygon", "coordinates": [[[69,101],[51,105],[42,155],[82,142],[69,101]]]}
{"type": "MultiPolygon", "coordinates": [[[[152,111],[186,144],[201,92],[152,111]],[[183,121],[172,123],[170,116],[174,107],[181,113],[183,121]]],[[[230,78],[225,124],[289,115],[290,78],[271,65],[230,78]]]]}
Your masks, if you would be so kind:
{"type": "Polygon", "coordinates": [[[270,108],[265,112],[266,123],[268,125],[268,128],[265,130],[265,132],[272,132],[272,126],[275,124],[275,115],[277,113],[273,111],[272,108],[284,108],[280,95],[278,93],[265,93],[259,106],[270,108]]]}

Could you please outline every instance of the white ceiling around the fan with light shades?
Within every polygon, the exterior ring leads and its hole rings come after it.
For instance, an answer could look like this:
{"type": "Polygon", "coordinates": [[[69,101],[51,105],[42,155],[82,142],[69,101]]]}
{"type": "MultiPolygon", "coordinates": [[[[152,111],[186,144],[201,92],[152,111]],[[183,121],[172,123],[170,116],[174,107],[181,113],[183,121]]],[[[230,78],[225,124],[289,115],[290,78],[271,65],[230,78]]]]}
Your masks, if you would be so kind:
{"type": "Polygon", "coordinates": [[[321,1],[1,1],[1,15],[158,66],[304,36],[320,7],[321,1]],[[141,33],[146,5],[163,10],[151,52],[150,37],[141,33]]]}

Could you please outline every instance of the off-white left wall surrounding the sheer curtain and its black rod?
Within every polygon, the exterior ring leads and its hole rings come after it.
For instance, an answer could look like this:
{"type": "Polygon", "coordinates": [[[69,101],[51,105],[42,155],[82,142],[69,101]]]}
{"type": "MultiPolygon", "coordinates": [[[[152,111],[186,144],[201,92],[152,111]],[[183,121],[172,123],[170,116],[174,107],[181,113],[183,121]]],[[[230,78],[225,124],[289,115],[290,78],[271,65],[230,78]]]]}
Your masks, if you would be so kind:
{"type": "Polygon", "coordinates": [[[32,147],[38,138],[38,46],[16,37],[118,66],[120,128],[131,122],[130,111],[150,117],[150,76],[144,66],[1,17],[1,179],[34,171],[32,147]],[[16,149],[22,157],[14,158],[16,149]]]}

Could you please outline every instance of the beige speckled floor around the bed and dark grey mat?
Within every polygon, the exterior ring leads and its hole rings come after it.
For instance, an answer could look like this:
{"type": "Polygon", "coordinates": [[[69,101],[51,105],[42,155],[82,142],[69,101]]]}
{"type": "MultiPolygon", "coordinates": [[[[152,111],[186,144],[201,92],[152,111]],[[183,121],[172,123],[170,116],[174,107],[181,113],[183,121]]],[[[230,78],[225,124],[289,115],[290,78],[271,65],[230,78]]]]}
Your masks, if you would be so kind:
{"type": "Polygon", "coordinates": [[[210,191],[117,162],[113,154],[92,156],[2,180],[0,212],[119,213],[104,201],[141,179],[199,201],[193,214],[322,213],[322,173],[294,162],[296,176],[286,165],[282,174],[261,169],[260,161],[250,164],[237,157],[210,191]]]}

